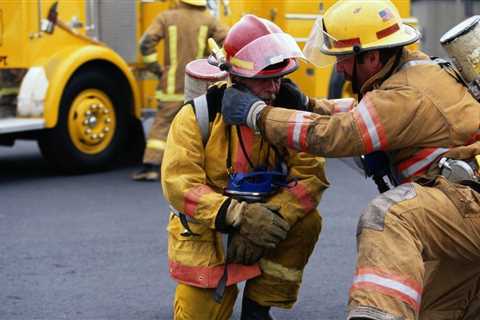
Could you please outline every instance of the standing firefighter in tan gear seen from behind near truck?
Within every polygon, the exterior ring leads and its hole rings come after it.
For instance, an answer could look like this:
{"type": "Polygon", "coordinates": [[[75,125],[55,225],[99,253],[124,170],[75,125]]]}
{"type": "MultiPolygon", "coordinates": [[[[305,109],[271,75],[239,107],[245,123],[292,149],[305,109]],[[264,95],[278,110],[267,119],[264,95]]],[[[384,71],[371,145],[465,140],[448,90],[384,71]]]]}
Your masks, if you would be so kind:
{"type": "Polygon", "coordinates": [[[158,111],[148,133],[143,167],[133,174],[138,181],[157,181],[170,123],[184,102],[185,65],[208,54],[207,39],[222,42],[224,27],[206,8],[206,0],[181,0],[177,7],[160,13],[140,40],[146,67],[159,78],[158,111]],[[163,68],[157,59],[157,44],[164,39],[163,68]]]}

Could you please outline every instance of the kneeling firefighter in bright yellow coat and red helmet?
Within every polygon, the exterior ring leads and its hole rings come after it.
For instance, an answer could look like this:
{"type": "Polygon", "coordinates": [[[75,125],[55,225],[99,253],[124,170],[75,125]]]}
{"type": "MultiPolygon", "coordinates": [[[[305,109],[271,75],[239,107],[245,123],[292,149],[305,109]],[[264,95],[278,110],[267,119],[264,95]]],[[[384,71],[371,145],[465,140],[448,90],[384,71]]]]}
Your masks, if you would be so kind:
{"type": "MultiPolygon", "coordinates": [[[[246,15],[228,33],[224,49],[234,86],[288,105],[282,88],[290,82],[282,76],[295,71],[303,56],[292,37],[246,15]],[[238,67],[269,56],[281,59],[238,67]]],[[[270,307],[291,308],[297,300],[321,230],[316,207],[328,187],[325,160],[274,148],[246,126],[227,125],[220,113],[227,86],[217,83],[187,102],[167,139],[161,180],[174,208],[167,227],[169,271],[178,282],[174,319],[229,319],[242,281],[242,319],[273,319],[270,307]],[[208,108],[207,126],[200,125],[202,106],[208,108]],[[206,138],[202,128],[208,128],[206,138]],[[246,200],[245,192],[229,189],[234,175],[258,170],[287,178],[263,199],[246,200]]]]}

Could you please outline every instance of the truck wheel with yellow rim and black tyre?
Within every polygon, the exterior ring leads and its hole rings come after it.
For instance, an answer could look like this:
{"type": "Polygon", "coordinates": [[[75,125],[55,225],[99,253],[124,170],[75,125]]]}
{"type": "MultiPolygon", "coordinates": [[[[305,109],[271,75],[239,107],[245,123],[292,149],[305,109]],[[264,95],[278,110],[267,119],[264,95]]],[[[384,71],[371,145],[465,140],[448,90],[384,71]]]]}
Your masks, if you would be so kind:
{"type": "Polygon", "coordinates": [[[128,106],[113,78],[94,70],[75,75],[60,101],[58,122],[39,140],[44,157],[63,171],[106,168],[124,146],[128,106]]]}

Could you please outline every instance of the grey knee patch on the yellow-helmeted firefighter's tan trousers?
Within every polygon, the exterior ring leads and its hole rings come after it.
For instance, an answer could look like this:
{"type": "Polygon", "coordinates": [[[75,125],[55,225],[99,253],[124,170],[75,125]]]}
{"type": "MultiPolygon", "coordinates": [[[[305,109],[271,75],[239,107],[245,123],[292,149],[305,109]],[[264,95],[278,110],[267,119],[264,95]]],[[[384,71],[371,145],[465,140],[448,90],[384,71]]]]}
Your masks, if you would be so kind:
{"type": "Polygon", "coordinates": [[[413,199],[417,196],[413,183],[405,183],[382,193],[373,199],[368,208],[360,216],[357,227],[357,236],[364,228],[383,231],[385,214],[390,208],[402,201],[413,199]]]}

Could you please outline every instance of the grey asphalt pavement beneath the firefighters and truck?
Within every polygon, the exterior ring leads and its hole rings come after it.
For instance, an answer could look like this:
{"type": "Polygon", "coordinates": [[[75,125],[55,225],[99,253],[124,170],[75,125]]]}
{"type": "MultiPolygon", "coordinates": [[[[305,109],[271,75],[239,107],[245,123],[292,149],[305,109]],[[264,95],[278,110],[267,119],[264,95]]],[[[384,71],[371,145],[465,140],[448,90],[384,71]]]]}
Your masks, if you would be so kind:
{"type": "MultiPolygon", "coordinates": [[[[0,147],[0,319],[171,319],[167,205],[134,167],[57,174],[36,144],[0,147]]],[[[298,303],[278,319],[344,319],[358,216],[375,187],[338,160],[298,303]]],[[[239,301],[238,301],[239,302],[239,301]]],[[[233,319],[239,319],[239,303],[233,319]]]]}

